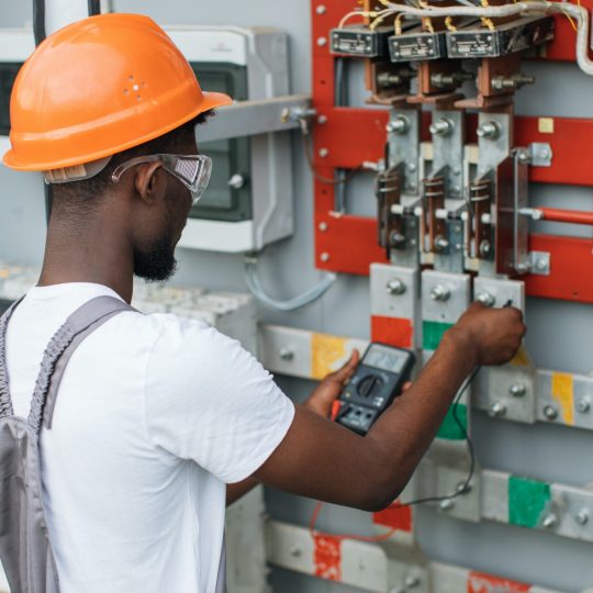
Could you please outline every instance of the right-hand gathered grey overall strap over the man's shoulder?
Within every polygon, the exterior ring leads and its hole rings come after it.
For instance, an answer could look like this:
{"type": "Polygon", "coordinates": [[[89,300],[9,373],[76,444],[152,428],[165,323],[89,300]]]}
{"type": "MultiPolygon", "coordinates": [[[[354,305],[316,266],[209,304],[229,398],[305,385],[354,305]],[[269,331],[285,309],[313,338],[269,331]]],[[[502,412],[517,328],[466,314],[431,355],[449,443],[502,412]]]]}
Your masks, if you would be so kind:
{"type": "Polygon", "coordinates": [[[35,382],[29,423],[38,434],[42,421],[52,427],[57,391],[66,366],[80,343],[108,320],[123,311],[135,311],[114,296],[98,296],[76,310],[49,342],[35,382]]]}

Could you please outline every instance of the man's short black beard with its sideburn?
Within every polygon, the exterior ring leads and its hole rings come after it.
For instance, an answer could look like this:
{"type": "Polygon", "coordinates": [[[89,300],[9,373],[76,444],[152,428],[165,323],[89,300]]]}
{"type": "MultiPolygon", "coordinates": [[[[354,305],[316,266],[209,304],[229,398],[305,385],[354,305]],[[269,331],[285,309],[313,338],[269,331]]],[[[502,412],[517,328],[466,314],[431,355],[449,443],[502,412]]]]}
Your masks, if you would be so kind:
{"type": "Polygon", "coordinates": [[[175,213],[172,210],[172,195],[167,195],[167,214],[165,232],[154,239],[146,249],[134,250],[134,276],[147,282],[164,282],[169,280],[177,271],[175,258],[175,213]]]}

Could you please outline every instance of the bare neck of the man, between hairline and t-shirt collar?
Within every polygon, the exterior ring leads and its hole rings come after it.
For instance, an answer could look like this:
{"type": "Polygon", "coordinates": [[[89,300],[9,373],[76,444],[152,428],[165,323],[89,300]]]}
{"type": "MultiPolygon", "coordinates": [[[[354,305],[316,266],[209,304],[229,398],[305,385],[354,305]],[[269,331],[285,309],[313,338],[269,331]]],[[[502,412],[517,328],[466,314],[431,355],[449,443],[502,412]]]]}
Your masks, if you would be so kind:
{"type": "Polygon", "coordinates": [[[134,253],[121,227],[101,213],[77,224],[53,212],[47,230],[40,287],[64,282],[93,282],[132,301],[134,253]]]}

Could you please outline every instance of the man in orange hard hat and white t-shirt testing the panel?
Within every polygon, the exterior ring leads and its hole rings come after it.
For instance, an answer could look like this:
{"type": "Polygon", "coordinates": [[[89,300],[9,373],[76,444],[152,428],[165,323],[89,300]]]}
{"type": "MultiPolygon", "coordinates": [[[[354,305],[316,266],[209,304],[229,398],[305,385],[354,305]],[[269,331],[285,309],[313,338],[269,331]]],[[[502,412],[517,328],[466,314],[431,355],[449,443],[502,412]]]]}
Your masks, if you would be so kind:
{"type": "MultiPolygon", "coordinates": [[[[138,15],[69,25],[24,65],[4,163],[44,171],[54,204],[38,284],[8,326],[16,415],[26,416],[38,361],[68,315],[100,295],[130,302],[134,275],[171,276],[210,174],[195,125],[228,102],[202,92],[170,40],[138,15]]],[[[508,361],[524,333],[517,310],[472,305],[362,438],[326,417],[358,355],[300,406],[237,343],[202,323],[112,317],[71,357],[52,428],[41,433],[60,590],[215,591],[225,491],[233,501],[256,481],[385,507],[463,379],[479,365],[508,361]]]]}

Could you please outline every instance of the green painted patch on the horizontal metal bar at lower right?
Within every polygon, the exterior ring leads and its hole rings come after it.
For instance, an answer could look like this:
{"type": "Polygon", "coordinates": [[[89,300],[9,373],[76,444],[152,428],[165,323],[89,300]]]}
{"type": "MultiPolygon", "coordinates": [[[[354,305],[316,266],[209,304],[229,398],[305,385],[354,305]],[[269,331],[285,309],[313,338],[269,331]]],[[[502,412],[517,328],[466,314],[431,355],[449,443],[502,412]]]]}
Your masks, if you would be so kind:
{"type": "Polygon", "coordinates": [[[550,500],[550,484],[511,475],[508,478],[508,523],[522,527],[537,527],[550,500]]]}

